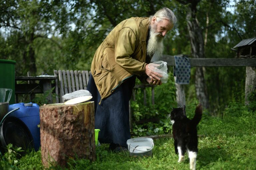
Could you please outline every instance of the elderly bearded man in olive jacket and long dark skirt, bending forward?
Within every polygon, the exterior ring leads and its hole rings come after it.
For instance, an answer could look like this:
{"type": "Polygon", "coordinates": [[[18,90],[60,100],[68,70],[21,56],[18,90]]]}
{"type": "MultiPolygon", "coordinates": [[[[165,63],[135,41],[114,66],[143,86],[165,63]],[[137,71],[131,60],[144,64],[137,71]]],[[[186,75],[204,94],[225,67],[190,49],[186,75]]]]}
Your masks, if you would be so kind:
{"type": "Polygon", "coordinates": [[[163,38],[176,23],[168,8],[153,16],[132,17],[119,23],[98,47],[91,65],[87,90],[95,102],[95,128],[109,149],[126,149],[131,138],[129,100],[136,77],[142,83],[161,85],[162,77],[148,68],[154,54],[163,52],[163,38]]]}

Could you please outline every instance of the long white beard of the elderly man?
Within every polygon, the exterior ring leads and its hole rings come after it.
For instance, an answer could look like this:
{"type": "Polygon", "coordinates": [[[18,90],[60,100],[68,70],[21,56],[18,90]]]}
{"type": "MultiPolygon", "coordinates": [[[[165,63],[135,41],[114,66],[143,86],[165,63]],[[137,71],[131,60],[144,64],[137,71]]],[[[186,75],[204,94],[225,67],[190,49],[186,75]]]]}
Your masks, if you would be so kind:
{"type": "Polygon", "coordinates": [[[156,53],[158,56],[162,56],[164,51],[164,37],[160,37],[159,35],[161,35],[161,33],[155,33],[155,31],[155,26],[151,27],[147,43],[147,55],[151,57],[154,55],[154,53],[156,53]]]}

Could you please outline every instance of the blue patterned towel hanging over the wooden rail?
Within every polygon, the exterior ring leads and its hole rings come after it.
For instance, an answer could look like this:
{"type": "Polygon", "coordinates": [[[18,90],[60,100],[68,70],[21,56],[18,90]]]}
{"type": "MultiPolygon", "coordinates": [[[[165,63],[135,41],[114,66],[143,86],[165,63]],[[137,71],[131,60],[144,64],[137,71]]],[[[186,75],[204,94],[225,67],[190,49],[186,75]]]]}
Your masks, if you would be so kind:
{"type": "Polygon", "coordinates": [[[176,77],[175,83],[180,85],[188,85],[190,79],[190,63],[187,57],[174,56],[175,67],[173,75],[176,77]]]}

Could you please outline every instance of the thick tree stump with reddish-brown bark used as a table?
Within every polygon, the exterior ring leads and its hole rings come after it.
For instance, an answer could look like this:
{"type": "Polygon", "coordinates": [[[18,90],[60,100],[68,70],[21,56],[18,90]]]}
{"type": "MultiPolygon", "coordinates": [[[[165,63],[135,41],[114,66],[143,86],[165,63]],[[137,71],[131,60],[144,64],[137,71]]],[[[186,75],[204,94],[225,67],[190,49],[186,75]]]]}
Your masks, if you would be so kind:
{"type": "Polygon", "coordinates": [[[42,163],[66,166],[69,158],[95,160],[94,102],[40,106],[42,163]]]}

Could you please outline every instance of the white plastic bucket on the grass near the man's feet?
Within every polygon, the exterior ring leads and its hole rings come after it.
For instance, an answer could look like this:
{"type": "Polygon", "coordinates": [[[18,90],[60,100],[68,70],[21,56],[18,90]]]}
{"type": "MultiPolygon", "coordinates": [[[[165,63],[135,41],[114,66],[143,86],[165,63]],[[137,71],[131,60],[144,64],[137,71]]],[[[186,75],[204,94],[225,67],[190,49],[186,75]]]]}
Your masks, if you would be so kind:
{"type": "Polygon", "coordinates": [[[140,137],[127,140],[130,156],[152,156],[154,142],[152,138],[140,137]]]}

